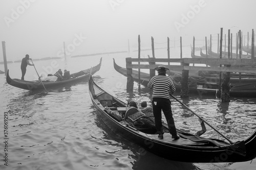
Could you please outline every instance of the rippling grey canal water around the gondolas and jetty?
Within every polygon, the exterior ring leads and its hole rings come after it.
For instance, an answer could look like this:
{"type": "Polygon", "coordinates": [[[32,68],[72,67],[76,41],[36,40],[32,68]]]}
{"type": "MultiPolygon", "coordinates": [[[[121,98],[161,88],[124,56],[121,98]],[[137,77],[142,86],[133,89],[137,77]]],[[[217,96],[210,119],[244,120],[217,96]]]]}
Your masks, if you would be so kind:
{"type": "MultiPolygon", "coordinates": [[[[190,51],[189,51],[190,52],[190,51]]],[[[151,52],[143,52],[146,56],[151,52]]],[[[156,51],[156,54],[165,51],[156,51]]],[[[179,49],[177,49],[179,53],[179,49]]],[[[189,54],[189,53],[188,53],[189,54]]],[[[184,54],[186,55],[186,54],[184,54]]],[[[164,55],[165,56],[165,55],[164,55]]],[[[177,55],[179,56],[179,55],[177,55]]],[[[125,57],[137,57],[136,53],[70,58],[67,62],[57,60],[59,67],[71,72],[102,66],[93,76],[95,82],[122,101],[150,102],[147,88],[138,93],[135,84],[133,94],[126,93],[126,78],[114,70],[113,60],[125,66],[125,57]],[[88,61],[88,59],[90,60],[88,61]]],[[[38,72],[51,61],[35,61],[38,72]]],[[[9,64],[10,76],[19,78],[20,63],[9,64]]],[[[3,70],[3,65],[0,67],[3,70]]],[[[56,68],[57,70],[58,68],[56,68]]],[[[55,70],[54,70],[55,71],[55,70]]],[[[142,70],[143,71],[143,70],[142,70]]],[[[34,79],[34,68],[28,66],[25,79],[34,79]]],[[[0,75],[1,129],[3,113],[9,113],[8,167],[1,162],[1,169],[255,169],[256,160],[239,163],[186,163],[163,159],[150,152],[140,155],[137,144],[120,138],[104,126],[92,105],[88,81],[69,87],[57,87],[47,94],[44,91],[29,92],[12,87],[0,75]]],[[[231,98],[229,103],[220,103],[215,96],[190,95],[180,99],[191,110],[204,117],[209,124],[231,140],[247,138],[256,127],[256,99],[231,98]]],[[[197,116],[172,100],[176,127],[191,133],[201,129],[197,116]]],[[[205,137],[223,139],[210,127],[205,137]]],[[[1,152],[3,159],[3,130],[1,152]]],[[[168,153],[175,154],[175,153],[168,153]]]]}

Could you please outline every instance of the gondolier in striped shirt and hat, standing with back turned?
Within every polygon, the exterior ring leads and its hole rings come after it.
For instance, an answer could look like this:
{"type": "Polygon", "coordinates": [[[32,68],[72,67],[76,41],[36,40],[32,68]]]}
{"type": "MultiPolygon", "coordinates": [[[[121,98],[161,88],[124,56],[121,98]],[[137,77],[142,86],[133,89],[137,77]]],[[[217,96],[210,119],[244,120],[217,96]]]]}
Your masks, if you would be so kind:
{"type": "Polygon", "coordinates": [[[152,106],[153,113],[156,122],[158,137],[163,139],[163,131],[162,131],[162,113],[166,118],[168,129],[170,134],[172,134],[172,138],[179,139],[180,137],[177,135],[176,127],[174,123],[172,108],[170,106],[170,94],[173,94],[176,90],[173,81],[166,76],[166,68],[164,65],[160,65],[155,70],[158,71],[158,75],[151,78],[150,82],[148,82],[147,87],[152,89],[152,106]]]}

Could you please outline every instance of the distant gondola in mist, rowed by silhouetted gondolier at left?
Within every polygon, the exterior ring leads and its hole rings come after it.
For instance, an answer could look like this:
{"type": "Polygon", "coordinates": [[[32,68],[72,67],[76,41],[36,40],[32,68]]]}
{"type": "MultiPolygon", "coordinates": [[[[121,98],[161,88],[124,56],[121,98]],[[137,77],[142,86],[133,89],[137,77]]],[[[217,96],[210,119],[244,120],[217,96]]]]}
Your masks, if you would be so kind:
{"type": "Polygon", "coordinates": [[[64,86],[67,84],[72,84],[75,82],[79,82],[79,81],[83,81],[83,80],[87,80],[90,76],[90,72],[91,74],[95,74],[95,72],[97,72],[100,69],[101,66],[101,61],[102,58],[100,59],[100,63],[92,68],[86,69],[86,70],[81,70],[79,72],[75,72],[73,74],[71,74],[70,76],[72,78],[68,79],[68,80],[62,80],[62,81],[57,81],[57,82],[40,82],[40,81],[25,81],[25,80],[20,80],[20,79],[11,79],[9,76],[9,70],[7,71],[7,75],[6,75],[6,81],[8,84],[14,86],[14,87],[18,87],[18,88],[22,88],[25,90],[39,90],[39,89],[44,89],[45,88],[51,89],[53,87],[56,86],[64,86]]]}

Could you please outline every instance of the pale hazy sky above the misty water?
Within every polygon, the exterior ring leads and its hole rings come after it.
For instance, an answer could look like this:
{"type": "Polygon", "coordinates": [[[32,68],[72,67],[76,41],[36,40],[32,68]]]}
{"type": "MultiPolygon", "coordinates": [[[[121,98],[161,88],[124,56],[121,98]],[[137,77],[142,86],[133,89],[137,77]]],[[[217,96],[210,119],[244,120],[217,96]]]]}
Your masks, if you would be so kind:
{"type": "Polygon", "coordinates": [[[136,46],[138,35],[143,45],[151,36],[155,42],[182,36],[189,45],[193,36],[217,36],[221,27],[224,34],[251,34],[255,6],[253,0],[1,0],[0,39],[9,58],[54,57],[63,41],[71,55],[125,47],[127,39],[136,46]]]}

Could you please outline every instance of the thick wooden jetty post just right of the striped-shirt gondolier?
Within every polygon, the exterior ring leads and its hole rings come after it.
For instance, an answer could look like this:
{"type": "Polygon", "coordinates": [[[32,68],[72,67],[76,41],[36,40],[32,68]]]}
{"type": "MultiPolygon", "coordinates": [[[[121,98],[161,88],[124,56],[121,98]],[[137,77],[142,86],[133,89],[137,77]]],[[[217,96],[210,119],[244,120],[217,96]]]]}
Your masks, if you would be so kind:
{"type": "MultiPolygon", "coordinates": [[[[181,65],[189,65],[188,63],[181,63],[181,65]]],[[[182,70],[182,80],[181,80],[181,98],[188,98],[189,96],[189,88],[188,88],[188,70],[182,70]]]]}

